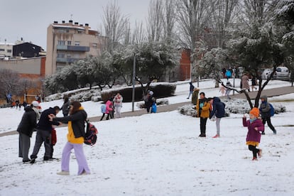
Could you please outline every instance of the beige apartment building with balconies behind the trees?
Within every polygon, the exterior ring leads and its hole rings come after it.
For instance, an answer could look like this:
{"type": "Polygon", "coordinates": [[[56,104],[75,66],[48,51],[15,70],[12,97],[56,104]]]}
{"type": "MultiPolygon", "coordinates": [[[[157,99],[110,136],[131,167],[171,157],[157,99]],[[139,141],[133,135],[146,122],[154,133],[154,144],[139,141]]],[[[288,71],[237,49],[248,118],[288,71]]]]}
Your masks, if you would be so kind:
{"type": "Polygon", "coordinates": [[[99,56],[106,44],[106,38],[92,30],[89,24],[54,21],[47,28],[47,55],[45,75],[52,75],[76,60],[89,55],[99,56]]]}

